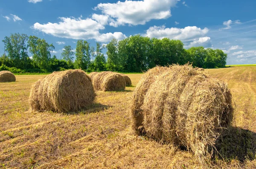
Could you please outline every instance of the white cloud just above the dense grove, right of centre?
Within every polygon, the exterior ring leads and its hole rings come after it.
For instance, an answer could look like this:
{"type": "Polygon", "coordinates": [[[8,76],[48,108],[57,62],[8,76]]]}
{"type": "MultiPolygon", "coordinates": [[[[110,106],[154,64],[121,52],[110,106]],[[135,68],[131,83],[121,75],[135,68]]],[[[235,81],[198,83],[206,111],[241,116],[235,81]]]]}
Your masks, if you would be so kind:
{"type": "Polygon", "coordinates": [[[198,46],[198,45],[210,45],[210,37],[205,35],[208,33],[208,28],[198,28],[196,26],[187,26],[185,28],[166,28],[163,26],[152,26],[148,28],[144,36],[155,37],[158,39],[163,39],[168,37],[170,39],[181,40],[185,47],[198,46]]]}

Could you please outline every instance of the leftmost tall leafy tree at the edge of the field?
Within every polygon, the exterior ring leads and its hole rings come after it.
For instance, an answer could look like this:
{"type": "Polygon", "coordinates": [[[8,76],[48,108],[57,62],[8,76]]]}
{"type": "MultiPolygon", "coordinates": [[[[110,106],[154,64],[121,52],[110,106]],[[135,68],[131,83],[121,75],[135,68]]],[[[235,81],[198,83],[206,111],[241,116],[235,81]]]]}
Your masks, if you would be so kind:
{"type": "Polygon", "coordinates": [[[19,33],[11,34],[10,37],[5,37],[3,40],[8,57],[17,68],[25,69],[27,67],[27,60],[29,58],[27,41],[28,36],[19,33]]]}

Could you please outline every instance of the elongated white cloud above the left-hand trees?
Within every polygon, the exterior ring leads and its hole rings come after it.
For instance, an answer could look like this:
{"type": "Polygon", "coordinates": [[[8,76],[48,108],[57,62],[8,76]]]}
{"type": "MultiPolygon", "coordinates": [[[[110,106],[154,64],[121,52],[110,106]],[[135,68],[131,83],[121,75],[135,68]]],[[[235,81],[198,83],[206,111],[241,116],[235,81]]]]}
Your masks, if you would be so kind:
{"type": "Polygon", "coordinates": [[[100,34],[99,30],[105,27],[91,18],[60,17],[59,19],[61,20],[59,23],[35,23],[32,28],[55,37],[70,39],[96,39],[99,42],[109,42],[112,38],[118,40],[125,38],[121,32],[100,34]]]}

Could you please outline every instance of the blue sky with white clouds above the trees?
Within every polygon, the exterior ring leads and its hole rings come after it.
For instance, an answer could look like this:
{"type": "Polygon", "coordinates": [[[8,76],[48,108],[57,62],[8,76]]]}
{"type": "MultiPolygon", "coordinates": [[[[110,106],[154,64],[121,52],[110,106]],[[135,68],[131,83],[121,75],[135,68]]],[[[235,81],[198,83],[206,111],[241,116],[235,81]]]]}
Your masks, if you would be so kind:
{"type": "Polygon", "coordinates": [[[227,65],[256,64],[255,7],[256,0],[0,0],[0,54],[14,33],[46,39],[58,58],[78,39],[96,46],[140,34],[221,49],[227,65]]]}

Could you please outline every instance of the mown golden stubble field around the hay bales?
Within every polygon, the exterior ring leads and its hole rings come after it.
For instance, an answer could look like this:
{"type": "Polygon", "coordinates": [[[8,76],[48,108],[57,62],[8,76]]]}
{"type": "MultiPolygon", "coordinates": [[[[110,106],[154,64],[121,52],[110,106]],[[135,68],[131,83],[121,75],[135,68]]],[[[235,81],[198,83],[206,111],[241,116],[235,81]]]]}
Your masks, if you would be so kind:
{"type": "MultiPolygon", "coordinates": [[[[228,83],[234,120],[201,164],[191,152],[138,137],[129,105],[134,87],[97,92],[96,104],[80,113],[29,112],[33,82],[45,75],[17,75],[0,83],[0,168],[130,169],[256,168],[256,67],[205,70],[228,83]]],[[[127,74],[135,86],[142,74],[127,74]]]]}

